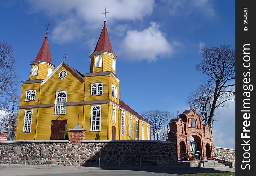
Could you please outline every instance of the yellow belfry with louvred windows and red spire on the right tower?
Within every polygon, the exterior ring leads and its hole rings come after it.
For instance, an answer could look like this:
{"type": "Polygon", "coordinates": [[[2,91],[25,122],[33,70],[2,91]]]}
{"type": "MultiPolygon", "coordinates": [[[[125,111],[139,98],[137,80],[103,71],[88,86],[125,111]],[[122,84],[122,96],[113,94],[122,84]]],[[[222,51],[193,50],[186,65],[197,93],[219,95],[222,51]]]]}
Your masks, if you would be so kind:
{"type": "Polygon", "coordinates": [[[116,74],[117,55],[113,53],[106,23],[107,21],[104,21],[104,26],[99,36],[97,45],[94,49],[94,52],[90,55],[90,73],[112,71],[114,74],[116,74]]]}

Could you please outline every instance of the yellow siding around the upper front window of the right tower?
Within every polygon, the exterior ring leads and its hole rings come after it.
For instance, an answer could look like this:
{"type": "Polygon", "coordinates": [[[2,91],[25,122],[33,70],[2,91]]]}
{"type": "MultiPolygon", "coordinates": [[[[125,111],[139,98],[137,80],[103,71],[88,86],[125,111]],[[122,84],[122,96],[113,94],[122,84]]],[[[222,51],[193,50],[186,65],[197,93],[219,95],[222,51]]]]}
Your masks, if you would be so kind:
{"type": "Polygon", "coordinates": [[[86,77],[86,101],[106,100],[109,94],[109,75],[86,77]],[[91,95],[91,83],[103,82],[103,94],[91,95]]]}

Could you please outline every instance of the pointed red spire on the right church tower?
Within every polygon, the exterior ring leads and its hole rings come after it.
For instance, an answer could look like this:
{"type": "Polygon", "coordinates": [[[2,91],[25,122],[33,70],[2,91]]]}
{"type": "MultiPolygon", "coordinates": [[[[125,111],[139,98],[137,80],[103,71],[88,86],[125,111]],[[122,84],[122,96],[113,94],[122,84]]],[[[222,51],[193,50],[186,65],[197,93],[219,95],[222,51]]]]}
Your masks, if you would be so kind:
{"type": "Polygon", "coordinates": [[[112,46],[109,40],[109,34],[107,31],[106,23],[107,21],[104,21],[104,26],[99,36],[99,40],[97,42],[94,52],[106,51],[109,53],[113,53],[112,46]]]}

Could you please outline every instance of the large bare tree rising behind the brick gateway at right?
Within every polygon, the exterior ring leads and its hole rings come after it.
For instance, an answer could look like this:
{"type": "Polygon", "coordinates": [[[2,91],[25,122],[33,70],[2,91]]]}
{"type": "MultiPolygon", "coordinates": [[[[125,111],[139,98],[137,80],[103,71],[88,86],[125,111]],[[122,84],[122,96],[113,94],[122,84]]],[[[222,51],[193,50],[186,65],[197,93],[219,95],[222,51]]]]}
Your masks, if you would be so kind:
{"type": "Polygon", "coordinates": [[[227,44],[201,49],[202,60],[197,70],[208,76],[208,89],[212,92],[209,101],[210,114],[207,123],[211,124],[216,108],[227,106],[235,100],[235,49],[227,44]]]}

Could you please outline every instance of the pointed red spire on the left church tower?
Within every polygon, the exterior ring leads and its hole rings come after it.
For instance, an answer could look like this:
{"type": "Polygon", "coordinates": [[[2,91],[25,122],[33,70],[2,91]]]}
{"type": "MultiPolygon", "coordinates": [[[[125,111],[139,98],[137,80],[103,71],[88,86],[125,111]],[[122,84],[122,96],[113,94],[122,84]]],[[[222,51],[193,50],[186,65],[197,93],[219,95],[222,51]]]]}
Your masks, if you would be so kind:
{"type": "Polygon", "coordinates": [[[36,56],[35,61],[49,62],[52,64],[47,32],[44,38],[44,42],[36,56]]]}

